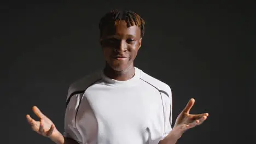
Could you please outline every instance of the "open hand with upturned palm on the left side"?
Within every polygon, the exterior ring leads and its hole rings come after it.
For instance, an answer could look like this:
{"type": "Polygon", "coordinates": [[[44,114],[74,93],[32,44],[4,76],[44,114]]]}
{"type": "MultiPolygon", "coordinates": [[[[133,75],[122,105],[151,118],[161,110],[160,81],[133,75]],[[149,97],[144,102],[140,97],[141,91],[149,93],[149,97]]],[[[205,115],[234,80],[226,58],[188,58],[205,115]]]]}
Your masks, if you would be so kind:
{"type": "Polygon", "coordinates": [[[45,137],[49,137],[55,143],[64,143],[63,135],[56,129],[54,123],[46,117],[37,106],[32,107],[32,111],[38,116],[39,121],[35,121],[30,115],[26,115],[32,130],[45,137]]]}

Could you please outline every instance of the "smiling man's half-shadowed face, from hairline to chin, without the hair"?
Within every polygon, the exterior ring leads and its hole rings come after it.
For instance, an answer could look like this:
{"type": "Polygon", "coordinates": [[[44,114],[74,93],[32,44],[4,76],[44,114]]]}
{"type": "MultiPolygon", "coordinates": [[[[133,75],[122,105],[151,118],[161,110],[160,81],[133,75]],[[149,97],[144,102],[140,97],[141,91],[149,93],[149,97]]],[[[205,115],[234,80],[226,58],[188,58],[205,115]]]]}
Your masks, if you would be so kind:
{"type": "Polygon", "coordinates": [[[125,21],[117,21],[117,25],[106,27],[101,37],[105,61],[117,71],[132,67],[141,40],[141,29],[137,26],[127,27],[125,21]]]}

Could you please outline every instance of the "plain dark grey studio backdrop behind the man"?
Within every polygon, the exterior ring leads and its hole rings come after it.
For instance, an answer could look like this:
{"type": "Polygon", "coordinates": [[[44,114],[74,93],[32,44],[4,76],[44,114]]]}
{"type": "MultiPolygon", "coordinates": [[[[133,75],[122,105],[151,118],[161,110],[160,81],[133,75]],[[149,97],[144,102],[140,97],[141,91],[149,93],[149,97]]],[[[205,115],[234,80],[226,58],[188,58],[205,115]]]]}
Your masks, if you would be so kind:
{"type": "Polygon", "coordinates": [[[53,143],[26,122],[27,113],[36,118],[33,105],[63,131],[68,86],[104,66],[97,26],[112,8],[131,9],[146,21],[135,64],[172,88],[173,124],[190,98],[196,100],[191,113],[210,113],[178,143],[255,143],[252,4],[22,2],[0,6],[7,143],[53,143]]]}

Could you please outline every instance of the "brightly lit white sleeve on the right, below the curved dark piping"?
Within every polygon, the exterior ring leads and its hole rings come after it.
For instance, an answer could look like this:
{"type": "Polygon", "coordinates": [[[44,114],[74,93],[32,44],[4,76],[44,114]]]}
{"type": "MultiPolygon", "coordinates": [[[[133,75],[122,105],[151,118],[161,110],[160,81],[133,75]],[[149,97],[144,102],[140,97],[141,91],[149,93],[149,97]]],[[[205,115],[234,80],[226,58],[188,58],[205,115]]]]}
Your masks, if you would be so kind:
{"type": "Polygon", "coordinates": [[[162,139],[171,132],[172,130],[172,92],[171,88],[168,87],[166,92],[162,92],[162,101],[164,105],[164,114],[165,114],[165,125],[164,125],[164,134],[162,135],[162,139]]]}

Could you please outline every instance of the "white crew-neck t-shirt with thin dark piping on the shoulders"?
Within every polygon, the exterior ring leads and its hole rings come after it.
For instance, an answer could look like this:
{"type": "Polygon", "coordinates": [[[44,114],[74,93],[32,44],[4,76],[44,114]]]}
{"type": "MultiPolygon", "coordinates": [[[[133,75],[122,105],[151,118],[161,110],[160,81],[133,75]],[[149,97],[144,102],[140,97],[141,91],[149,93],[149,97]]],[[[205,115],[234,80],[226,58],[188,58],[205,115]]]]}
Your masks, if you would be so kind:
{"type": "Polygon", "coordinates": [[[158,144],[170,133],[172,93],[166,83],[135,67],[127,81],[103,71],[68,91],[64,136],[86,144],[158,144]]]}

